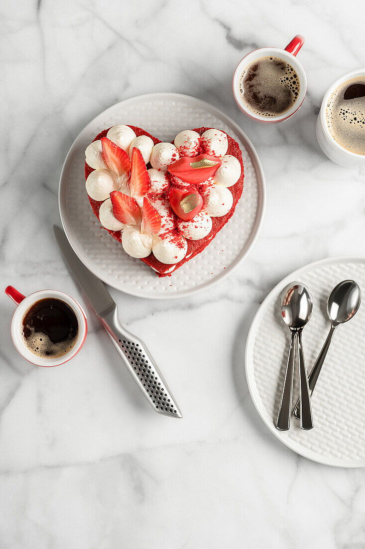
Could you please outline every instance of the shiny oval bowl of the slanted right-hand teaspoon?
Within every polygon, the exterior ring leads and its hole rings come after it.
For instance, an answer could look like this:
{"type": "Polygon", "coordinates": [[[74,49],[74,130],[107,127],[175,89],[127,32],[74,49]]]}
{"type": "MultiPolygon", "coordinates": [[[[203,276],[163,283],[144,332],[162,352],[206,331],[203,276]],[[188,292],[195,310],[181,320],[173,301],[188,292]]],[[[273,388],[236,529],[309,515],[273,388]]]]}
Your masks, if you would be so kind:
{"type": "Polygon", "coordinates": [[[360,306],[360,288],[353,280],[344,280],[335,286],[327,301],[327,315],[333,327],[349,321],[360,306]]]}

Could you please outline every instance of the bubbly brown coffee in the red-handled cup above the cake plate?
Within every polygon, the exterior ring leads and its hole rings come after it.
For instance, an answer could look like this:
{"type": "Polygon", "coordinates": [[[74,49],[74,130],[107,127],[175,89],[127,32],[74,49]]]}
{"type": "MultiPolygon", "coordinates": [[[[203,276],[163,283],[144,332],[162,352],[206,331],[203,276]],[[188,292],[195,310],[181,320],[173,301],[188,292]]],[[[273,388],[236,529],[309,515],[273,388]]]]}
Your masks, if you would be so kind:
{"type": "Polygon", "coordinates": [[[255,114],[277,116],[294,105],[300,83],[292,65],[277,57],[261,57],[243,71],[239,88],[255,114]]]}

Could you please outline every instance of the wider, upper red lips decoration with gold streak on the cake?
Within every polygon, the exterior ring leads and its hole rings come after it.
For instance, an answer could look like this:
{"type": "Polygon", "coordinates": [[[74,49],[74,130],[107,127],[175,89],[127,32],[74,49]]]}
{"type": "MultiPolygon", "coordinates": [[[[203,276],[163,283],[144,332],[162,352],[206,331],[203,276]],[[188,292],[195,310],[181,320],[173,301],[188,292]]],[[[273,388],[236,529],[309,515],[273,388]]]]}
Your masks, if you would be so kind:
{"type": "Polygon", "coordinates": [[[215,158],[215,156],[209,156],[209,154],[199,154],[189,158],[183,156],[179,160],[176,160],[173,164],[170,164],[168,171],[191,185],[198,185],[207,181],[209,177],[212,177],[221,165],[222,160],[215,158]]]}

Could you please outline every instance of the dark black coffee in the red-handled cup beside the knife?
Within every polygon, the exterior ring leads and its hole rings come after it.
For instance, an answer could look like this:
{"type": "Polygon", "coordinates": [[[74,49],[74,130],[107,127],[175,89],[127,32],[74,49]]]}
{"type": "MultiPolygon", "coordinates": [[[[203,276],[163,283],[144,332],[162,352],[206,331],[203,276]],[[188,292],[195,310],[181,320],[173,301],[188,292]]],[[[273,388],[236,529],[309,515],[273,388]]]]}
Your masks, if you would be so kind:
{"type": "Polygon", "coordinates": [[[27,348],[43,358],[64,356],[75,345],[78,322],[67,303],[55,298],[36,301],[22,322],[22,336],[27,348]]]}

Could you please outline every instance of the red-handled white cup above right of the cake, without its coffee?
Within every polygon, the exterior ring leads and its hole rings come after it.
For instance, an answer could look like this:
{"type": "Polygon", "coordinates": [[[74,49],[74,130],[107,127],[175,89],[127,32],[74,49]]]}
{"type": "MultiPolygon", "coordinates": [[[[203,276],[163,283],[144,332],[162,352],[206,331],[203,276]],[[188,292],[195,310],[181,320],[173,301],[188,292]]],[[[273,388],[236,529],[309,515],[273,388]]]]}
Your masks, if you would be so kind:
{"type": "Polygon", "coordinates": [[[233,75],[233,81],[232,81],[232,89],[233,89],[233,96],[235,97],[236,103],[239,107],[239,109],[242,110],[244,114],[252,118],[253,120],[257,120],[258,122],[263,122],[264,124],[275,124],[277,122],[283,122],[284,120],[287,120],[290,118],[290,116],[293,116],[293,114],[296,113],[296,111],[300,108],[300,105],[303,103],[305,94],[307,92],[307,79],[305,75],[305,71],[303,69],[303,65],[296,59],[295,55],[299,52],[300,48],[304,44],[304,38],[303,36],[296,35],[294,36],[293,40],[289,42],[288,46],[285,49],[280,48],[260,48],[255,49],[253,52],[248,53],[239,61],[235,74],[233,75]],[[296,99],[295,103],[290,107],[288,110],[284,111],[284,113],[278,114],[276,116],[264,116],[260,115],[258,113],[254,113],[250,108],[244,103],[242,93],[239,89],[239,82],[241,81],[242,73],[245,69],[248,68],[249,65],[252,65],[254,61],[260,59],[261,57],[277,57],[279,59],[282,59],[283,61],[286,61],[289,63],[289,65],[292,65],[293,69],[296,71],[296,75],[299,78],[299,95],[296,99]]]}

